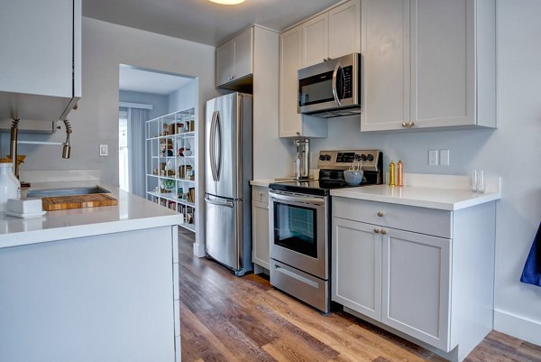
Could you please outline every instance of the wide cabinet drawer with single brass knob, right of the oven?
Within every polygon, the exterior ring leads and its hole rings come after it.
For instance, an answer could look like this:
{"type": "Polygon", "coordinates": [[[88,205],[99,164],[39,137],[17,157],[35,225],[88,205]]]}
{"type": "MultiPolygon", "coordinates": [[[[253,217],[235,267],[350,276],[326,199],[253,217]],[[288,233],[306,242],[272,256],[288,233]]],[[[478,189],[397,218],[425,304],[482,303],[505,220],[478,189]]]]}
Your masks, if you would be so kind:
{"type": "Polygon", "coordinates": [[[333,216],[436,237],[453,237],[453,213],[446,210],[334,197],[333,216]]]}

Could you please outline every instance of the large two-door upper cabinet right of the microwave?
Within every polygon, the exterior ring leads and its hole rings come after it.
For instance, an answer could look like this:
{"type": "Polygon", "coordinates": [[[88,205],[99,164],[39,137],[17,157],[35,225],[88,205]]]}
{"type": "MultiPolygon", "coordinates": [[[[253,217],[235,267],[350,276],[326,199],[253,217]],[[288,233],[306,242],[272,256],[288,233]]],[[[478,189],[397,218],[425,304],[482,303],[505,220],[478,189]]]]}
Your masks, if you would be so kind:
{"type": "Polygon", "coordinates": [[[495,20],[494,0],[364,0],[361,130],[495,127],[495,20]]]}

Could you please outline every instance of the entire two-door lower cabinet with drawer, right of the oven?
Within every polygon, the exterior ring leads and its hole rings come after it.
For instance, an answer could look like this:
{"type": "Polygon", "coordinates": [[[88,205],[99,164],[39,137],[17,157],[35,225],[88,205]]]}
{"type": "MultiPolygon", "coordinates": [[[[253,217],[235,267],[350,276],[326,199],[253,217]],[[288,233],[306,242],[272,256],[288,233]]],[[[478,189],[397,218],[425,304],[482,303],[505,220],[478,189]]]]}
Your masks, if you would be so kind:
{"type": "Polygon", "coordinates": [[[333,197],[332,300],[461,361],[492,328],[495,205],[333,197]]]}

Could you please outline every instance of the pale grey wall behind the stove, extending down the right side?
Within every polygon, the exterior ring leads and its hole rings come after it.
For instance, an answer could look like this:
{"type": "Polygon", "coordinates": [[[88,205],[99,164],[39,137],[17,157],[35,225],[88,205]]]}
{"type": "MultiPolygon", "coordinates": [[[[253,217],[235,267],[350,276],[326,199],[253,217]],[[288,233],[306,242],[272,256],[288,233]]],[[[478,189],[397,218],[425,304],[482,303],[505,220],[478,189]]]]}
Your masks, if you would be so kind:
{"type": "Polygon", "coordinates": [[[499,174],[495,329],[541,345],[541,288],[519,282],[541,221],[541,1],[500,0],[498,6],[497,130],[361,134],[359,117],[330,119],[328,138],[312,140],[312,150],[374,147],[386,153],[386,164],[402,159],[405,172],[499,174]],[[428,166],[432,148],[450,149],[451,165],[428,166]]]}

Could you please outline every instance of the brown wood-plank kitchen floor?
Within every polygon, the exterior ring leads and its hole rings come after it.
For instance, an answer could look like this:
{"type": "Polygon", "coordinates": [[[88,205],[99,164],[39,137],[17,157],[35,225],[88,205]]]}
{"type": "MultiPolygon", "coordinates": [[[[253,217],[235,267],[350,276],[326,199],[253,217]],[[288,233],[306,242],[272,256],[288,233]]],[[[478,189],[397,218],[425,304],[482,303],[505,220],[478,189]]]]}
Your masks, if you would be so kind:
{"type": "MultiPolygon", "coordinates": [[[[347,313],[323,316],[259,275],[194,258],[192,242],[180,234],[183,362],[445,360],[347,313]]],[[[466,361],[541,362],[541,347],[492,331],[466,361]]]]}

